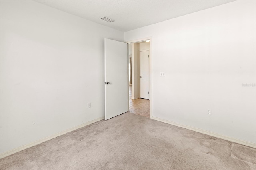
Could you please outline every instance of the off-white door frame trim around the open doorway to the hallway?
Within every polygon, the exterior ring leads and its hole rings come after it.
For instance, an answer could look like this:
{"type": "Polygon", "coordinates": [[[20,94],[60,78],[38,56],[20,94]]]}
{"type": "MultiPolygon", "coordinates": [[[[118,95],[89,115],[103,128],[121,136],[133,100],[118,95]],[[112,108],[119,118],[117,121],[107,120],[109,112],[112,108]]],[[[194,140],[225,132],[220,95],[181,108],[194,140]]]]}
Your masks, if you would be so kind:
{"type": "MultiPolygon", "coordinates": [[[[126,41],[126,43],[128,43],[128,44],[137,43],[137,42],[142,42],[142,41],[146,41],[146,40],[150,40],[150,49],[149,49],[149,58],[150,58],[150,60],[149,60],[149,73],[150,73],[150,77],[149,77],[150,86],[149,86],[149,88],[150,89],[149,89],[149,91],[150,91],[150,119],[151,119],[153,117],[152,116],[153,115],[153,112],[152,112],[152,103],[153,103],[153,95],[152,95],[152,82],[153,82],[153,80],[152,80],[152,36],[151,37],[146,37],[146,38],[140,38],[140,39],[136,39],[136,40],[126,41]]],[[[127,83],[129,83],[129,81],[127,83]]]]}

